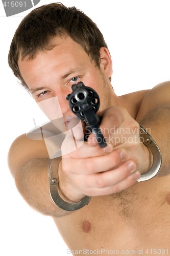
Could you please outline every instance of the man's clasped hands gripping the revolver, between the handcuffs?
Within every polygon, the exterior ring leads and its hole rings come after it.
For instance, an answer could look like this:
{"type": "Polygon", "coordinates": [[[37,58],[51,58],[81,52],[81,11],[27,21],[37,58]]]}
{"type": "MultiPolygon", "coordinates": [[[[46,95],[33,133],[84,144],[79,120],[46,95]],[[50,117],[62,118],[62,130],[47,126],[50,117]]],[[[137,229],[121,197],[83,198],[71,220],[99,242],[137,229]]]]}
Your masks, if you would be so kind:
{"type": "Polygon", "coordinates": [[[107,147],[100,148],[93,134],[69,154],[64,154],[71,143],[69,136],[62,144],[59,186],[67,200],[118,193],[132,186],[150,168],[150,152],[140,141],[139,124],[127,110],[111,107],[101,117],[107,147]]]}

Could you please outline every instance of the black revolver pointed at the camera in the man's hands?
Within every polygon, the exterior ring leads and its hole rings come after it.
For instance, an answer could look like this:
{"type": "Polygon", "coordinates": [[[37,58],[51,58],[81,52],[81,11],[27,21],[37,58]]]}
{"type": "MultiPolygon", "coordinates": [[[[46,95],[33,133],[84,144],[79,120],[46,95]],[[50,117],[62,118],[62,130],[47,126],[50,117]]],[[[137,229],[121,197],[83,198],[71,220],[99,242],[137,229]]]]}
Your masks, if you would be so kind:
{"type": "MultiPolygon", "coordinates": [[[[83,82],[73,84],[72,93],[66,99],[69,101],[71,111],[86,124],[86,129],[94,133],[96,140],[101,148],[106,147],[107,143],[99,127],[100,118],[96,114],[100,106],[100,98],[92,88],[84,85],[83,82]]],[[[88,135],[85,135],[87,140],[88,135]]]]}

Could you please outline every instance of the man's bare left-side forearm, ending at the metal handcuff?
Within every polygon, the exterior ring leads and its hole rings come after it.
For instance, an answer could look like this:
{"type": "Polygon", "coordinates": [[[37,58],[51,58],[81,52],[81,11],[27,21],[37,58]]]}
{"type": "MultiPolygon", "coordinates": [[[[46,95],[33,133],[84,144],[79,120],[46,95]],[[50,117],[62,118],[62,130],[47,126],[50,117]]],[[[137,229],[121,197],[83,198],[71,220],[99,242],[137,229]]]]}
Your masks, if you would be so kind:
{"type": "MultiPolygon", "coordinates": [[[[56,159],[53,160],[53,167],[56,159]]],[[[34,209],[44,215],[61,217],[70,212],[61,210],[52,201],[49,193],[48,165],[50,159],[38,158],[30,160],[23,168],[17,172],[15,183],[19,193],[34,209]]]]}

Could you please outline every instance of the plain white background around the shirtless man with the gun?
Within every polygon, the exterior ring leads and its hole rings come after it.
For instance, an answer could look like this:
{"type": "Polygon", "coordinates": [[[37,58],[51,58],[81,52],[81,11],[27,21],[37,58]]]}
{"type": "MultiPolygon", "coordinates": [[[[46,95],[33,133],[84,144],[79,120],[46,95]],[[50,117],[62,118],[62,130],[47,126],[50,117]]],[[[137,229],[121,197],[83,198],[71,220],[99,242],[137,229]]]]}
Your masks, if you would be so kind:
{"type": "MultiPolygon", "coordinates": [[[[51,2],[41,0],[36,7],[51,2]]],[[[63,0],[62,3],[83,10],[104,34],[113,60],[112,85],[117,95],[150,89],[169,80],[169,0],[63,0]]],[[[7,165],[12,141],[34,127],[33,118],[37,124],[44,120],[7,62],[14,31],[30,11],[6,17],[0,3],[0,255],[66,256],[67,246],[53,220],[23,201],[7,165]]]]}

